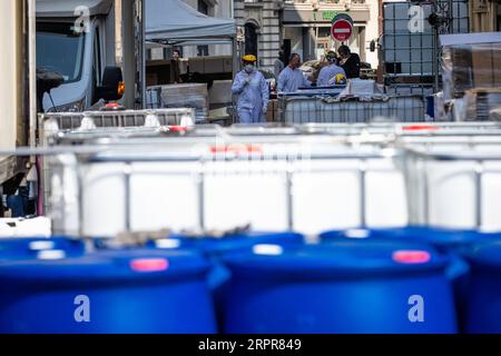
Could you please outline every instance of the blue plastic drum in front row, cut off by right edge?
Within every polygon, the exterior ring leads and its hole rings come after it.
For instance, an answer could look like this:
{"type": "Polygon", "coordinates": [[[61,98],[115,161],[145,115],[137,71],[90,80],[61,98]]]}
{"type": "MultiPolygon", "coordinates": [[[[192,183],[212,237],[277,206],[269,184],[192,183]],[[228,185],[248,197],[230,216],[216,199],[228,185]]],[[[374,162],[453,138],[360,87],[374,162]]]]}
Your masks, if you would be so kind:
{"type": "Polygon", "coordinates": [[[471,264],[471,281],[464,330],[501,334],[501,239],[472,246],[466,258],[471,264]]]}

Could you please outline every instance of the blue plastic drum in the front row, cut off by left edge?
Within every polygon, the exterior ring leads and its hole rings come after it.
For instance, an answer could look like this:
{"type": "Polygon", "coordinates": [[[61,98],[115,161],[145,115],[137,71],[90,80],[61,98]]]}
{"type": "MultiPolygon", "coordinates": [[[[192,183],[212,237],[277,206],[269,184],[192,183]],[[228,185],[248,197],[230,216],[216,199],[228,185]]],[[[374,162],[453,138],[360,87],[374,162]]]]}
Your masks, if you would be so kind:
{"type": "Polygon", "coordinates": [[[0,264],[0,333],[215,333],[209,264],[126,250],[0,264]]]}

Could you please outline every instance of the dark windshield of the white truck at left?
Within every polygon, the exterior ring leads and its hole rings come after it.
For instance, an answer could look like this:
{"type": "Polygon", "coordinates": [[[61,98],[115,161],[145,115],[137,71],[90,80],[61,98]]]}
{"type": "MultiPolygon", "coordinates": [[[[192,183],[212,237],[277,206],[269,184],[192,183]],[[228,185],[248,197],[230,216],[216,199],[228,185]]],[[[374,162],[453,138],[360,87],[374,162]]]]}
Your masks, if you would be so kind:
{"type": "Polygon", "coordinates": [[[37,68],[55,71],[65,83],[80,80],[85,33],[75,33],[72,23],[37,23],[37,68]]]}

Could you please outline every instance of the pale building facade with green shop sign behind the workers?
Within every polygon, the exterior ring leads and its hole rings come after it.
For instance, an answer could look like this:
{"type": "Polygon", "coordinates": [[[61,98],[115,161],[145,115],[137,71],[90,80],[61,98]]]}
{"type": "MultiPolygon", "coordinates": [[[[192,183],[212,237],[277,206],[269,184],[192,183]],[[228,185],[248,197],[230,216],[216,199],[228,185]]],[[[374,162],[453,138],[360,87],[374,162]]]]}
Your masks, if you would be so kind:
{"type": "MultiPolygon", "coordinates": [[[[341,42],[331,38],[331,21],[337,13],[354,20],[354,33],[347,41],[353,52],[373,68],[377,53],[370,51],[380,37],[379,0],[184,0],[198,12],[216,18],[234,18],[239,36],[239,52],[258,57],[259,66],[273,70],[281,48],[297,52],[304,61],[321,59],[327,49],[341,42]]],[[[150,59],[168,58],[171,49],[153,50],[150,59]]],[[[232,46],[184,47],[184,57],[230,55],[232,46]]]]}

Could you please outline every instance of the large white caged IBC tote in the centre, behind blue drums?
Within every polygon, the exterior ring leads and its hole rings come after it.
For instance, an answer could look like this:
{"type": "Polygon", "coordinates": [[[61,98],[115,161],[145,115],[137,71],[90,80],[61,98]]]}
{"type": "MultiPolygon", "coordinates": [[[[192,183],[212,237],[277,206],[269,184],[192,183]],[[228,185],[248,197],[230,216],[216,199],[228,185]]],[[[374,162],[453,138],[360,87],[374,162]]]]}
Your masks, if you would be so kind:
{"type": "Polygon", "coordinates": [[[63,210],[53,211],[60,217],[56,230],[115,236],[249,224],[254,230],[317,234],[407,222],[394,150],[322,144],[320,137],[281,149],[263,141],[229,156],[210,144],[205,152],[200,147],[194,155],[164,142],[86,156],[76,165],[60,160],[62,170],[52,177],[65,191],[52,200],[63,210]]]}

